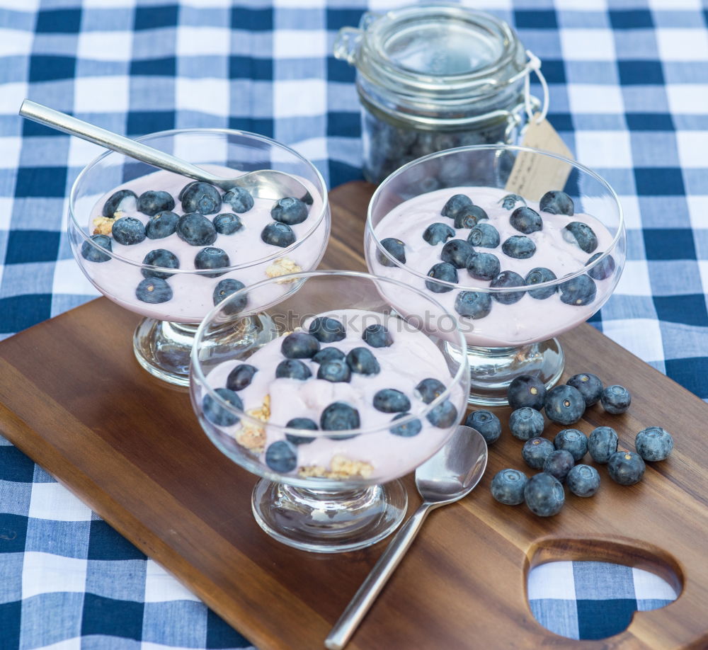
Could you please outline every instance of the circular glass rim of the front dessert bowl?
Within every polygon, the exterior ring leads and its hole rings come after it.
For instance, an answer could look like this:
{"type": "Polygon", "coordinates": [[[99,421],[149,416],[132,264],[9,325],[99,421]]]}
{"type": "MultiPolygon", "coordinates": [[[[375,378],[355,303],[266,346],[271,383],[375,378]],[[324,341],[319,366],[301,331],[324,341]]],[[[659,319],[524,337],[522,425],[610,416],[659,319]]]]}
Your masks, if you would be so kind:
{"type": "MultiPolygon", "coordinates": [[[[258,308],[256,308],[257,312],[258,308]]],[[[249,312],[247,309],[244,309],[244,313],[246,315],[252,314],[253,311],[249,312]]],[[[236,318],[241,317],[241,312],[239,314],[235,315],[236,318]]],[[[404,320],[406,320],[405,317],[403,317],[404,320]]],[[[423,331],[422,329],[418,329],[418,331],[421,331],[424,336],[430,338],[430,336],[423,331]]],[[[275,339],[273,339],[275,340],[275,339]]],[[[207,394],[212,397],[213,400],[216,401],[219,406],[221,406],[223,409],[225,409],[227,412],[230,412],[233,415],[236,415],[239,417],[239,421],[246,421],[249,424],[253,424],[254,426],[258,427],[263,427],[263,426],[268,426],[269,428],[275,428],[276,431],[279,431],[281,433],[293,433],[295,435],[302,435],[303,437],[307,438],[312,438],[313,440],[316,440],[317,438],[320,438],[323,435],[326,435],[333,440],[338,440],[342,438],[347,438],[349,436],[353,435],[371,435],[374,433],[381,433],[382,431],[388,431],[392,426],[403,426],[406,425],[414,420],[418,420],[421,418],[424,418],[430,414],[430,411],[433,411],[435,407],[437,407],[439,404],[442,404],[444,401],[446,401],[452,392],[452,388],[455,387],[460,380],[464,381],[464,378],[467,377],[469,381],[469,367],[468,367],[468,361],[467,361],[467,354],[464,353],[465,350],[467,350],[467,343],[464,339],[464,335],[462,334],[462,331],[459,329],[459,324],[457,322],[457,319],[450,314],[450,312],[447,312],[445,307],[442,307],[442,304],[440,304],[437,300],[434,298],[426,295],[422,290],[416,289],[416,287],[411,287],[410,285],[407,285],[406,283],[400,282],[399,280],[394,280],[393,278],[384,278],[379,275],[372,275],[371,273],[365,273],[363,271],[352,271],[352,270],[338,270],[338,269],[321,269],[321,270],[312,270],[312,271],[303,271],[302,273],[289,273],[287,275],[280,275],[278,278],[268,278],[267,280],[261,280],[261,282],[258,282],[254,285],[251,285],[249,287],[244,287],[243,289],[239,289],[238,291],[230,294],[228,297],[226,297],[222,302],[219,302],[219,304],[215,305],[215,307],[202,319],[202,322],[200,323],[195,336],[194,336],[194,343],[192,346],[192,353],[191,353],[191,363],[190,363],[190,368],[189,368],[189,375],[190,375],[190,387],[192,384],[196,381],[199,384],[202,384],[203,387],[205,387],[207,394]],[[433,401],[430,402],[430,404],[426,404],[426,408],[423,409],[422,411],[417,411],[416,413],[410,413],[408,416],[399,418],[396,420],[395,425],[392,422],[389,422],[387,425],[379,425],[375,427],[370,427],[370,428],[357,428],[357,429],[344,429],[340,431],[331,431],[331,430],[326,430],[326,429],[318,429],[317,431],[312,431],[309,429],[297,429],[297,428],[292,428],[292,427],[287,427],[284,425],[280,424],[273,424],[273,423],[268,423],[268,422],[263,422],[261,420],[258,420],[258,418],[254,418],[253,416],[250,416],[249,414],[246,413],[246,411],[241,411],[241,409],[236,409],[235,406],[232,404],[229,404],[225,399],[223,399],[217,392],[215,388],[212,388],[208,382],[206,381],[206,376],[202,372],[202,366],[200,363],[200,360],[198,358],[198,349],[200,347],[200,343],[202,341],[202,338],[204,336],[204,331],[207,328],[207,325],[211,323],[212,319],[216,317],[217,313],[224,307],[224,304],[227,304],[229,301],[236,300],[236,297],[248,295],[249,291],[253,289],[259,289],[265,285],[271,285],[273,283],[278,283],[279,281],[282,283],[282,281],[285,279],[287,280],[288,278],[292,278],[291,281],[294,281],[297,278],[316,278],[316,277],[341,277],[341,278],[362,278],[364,280],[370,280],[374,283],[389,283],[392,285],[396,285],[399,287],[404,287],[407,290],[411,290],[421,297],[426,298],[429,302],[433,304],[434,307],[440,309],[440,312],[442,314],[447,314],[447,316],[450,317],[450,321],[455,324],[455,332],[457,333],[457,338],[458,341],[455,342],[455,345],[460,348],[463,351],[463,354],[460,355],[462,358],[461,363],[459,363],[459,366],[457,367],[457,371],[455,372],[454,377],[450,379],[449,382],[445,384],[445,390],[433,401]]],[[[441,353],[442,354],[442,353],[441,353]]],[[[467,393],[469,392],[469,387],[467,390],[464,390],[464,397],[465,401],[464,404],[467,404],[467,393]]],[[[464,411],[464,405],[463,405],[463,411],[464,411]]],[[[396,415],[396,414],[392,414],[396,415]]],[[[214,425],[218,427],[218,425],[214,425]]],[[[232,425],[234,426],[234,425],[232,425]]]]}

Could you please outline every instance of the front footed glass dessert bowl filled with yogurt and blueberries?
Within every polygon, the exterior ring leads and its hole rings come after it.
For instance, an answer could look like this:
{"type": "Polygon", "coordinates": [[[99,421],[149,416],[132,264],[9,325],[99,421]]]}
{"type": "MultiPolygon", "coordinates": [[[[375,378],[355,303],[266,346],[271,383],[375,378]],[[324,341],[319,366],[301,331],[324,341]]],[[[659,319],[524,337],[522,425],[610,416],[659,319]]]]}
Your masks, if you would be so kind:
{"type": "Polygon", "coordinates": [[[261,478],[253,514],[285,544],[314,552],[367,547],[406,513],[397,480],[435,454],[464,415],[467,357],[430,338],[443,314],[396,280],[313,271],[235,292],[205,318],[192,352],[190,395],[225,455],[261,478]],[[273,285],[298,285],[272,304],[273,285]],[[385,295],[423,311],[403,319],[385,295]],[[232,341],[249,341],[234,346],[232,341]]]}

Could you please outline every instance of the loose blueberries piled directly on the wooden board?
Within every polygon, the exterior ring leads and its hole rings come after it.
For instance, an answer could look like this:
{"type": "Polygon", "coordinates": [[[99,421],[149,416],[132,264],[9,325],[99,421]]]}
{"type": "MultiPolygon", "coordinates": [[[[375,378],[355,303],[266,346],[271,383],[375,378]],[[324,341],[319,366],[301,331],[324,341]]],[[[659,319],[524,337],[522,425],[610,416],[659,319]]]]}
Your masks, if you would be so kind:
{"type": "MultiPolygon", "coordinates": [[[[491,494],[496,501],[509,506],[525,502],[532,513],[542,517],[555,515],[563,507],[563,483],[577,496],[589,497],[598,491],[598,470],[587,464],[576,464],[586,453],[589,452],[596,463],[607,464],[607,473],[613,481],[633,485],[644,476],[644,461],[665,460],[673,450],[672,436],[661,427],[649,427],[637,433],[636,452],[618,450],[617,432],[609,426],[595,428],[589,437],[576,428],[566,428],[559,431],[553,441],[542,438],[545,422],[541,409],[545,409],[550,420],[564,425],[577,422],[585,406],[598,401],[608,413],[627,411],[630,402],[627,389],[619,385],[605,388],[600,379],[590,373],[573,375],[566,384],[548,392],[536,377],[518,377],[510,384],[508,401],[514,409],[509,418],[510,431],[515,438],[524,441],[523,460],[540,473],[529,479],[518,469],[502,469],[492,479],[491,494]]],[[[488,444],[496,442],[501,435],[501,422],[491,411],[472,411],[465,424],[476,428],[488,444]]]]}

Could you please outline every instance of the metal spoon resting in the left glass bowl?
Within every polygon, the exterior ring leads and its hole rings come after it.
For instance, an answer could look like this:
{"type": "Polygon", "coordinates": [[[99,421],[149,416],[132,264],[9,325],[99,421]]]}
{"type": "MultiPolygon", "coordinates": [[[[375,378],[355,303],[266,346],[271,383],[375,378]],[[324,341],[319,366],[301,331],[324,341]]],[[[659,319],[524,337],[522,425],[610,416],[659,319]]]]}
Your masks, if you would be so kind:
{"type": "Polygon", "coordinates": [[[222,190],[231,190],[238,187],[248,190],[253,196],[260,198],[280,199],[292,196],[304,200],[305,203],[312,203],[312,197],[309,195],[307,188],[295,176],[291,176],[284,171],[259,169],[258,171],[250,171],[241,176],[236,176],[236,178],[222,178],[222,176],[215,176],[196,165],[176,158],[176,156],[148,147],[147,144],[136,142],[129,137],[102,129],[29,99],[23,101],[19,114],[28,120],[39,122],[69,135],[76,135],[76,137],[81,137],[94,144],[100,144],[101,147],[106,149],[112,149],[114,152],[119,152],[130,156],[130,158],[159,167],[159,169],[173,171],[182,176],[188,176],[188,178],[195,178],[197,181],[206,181],[218,188],[222,188],[222,190]]]}

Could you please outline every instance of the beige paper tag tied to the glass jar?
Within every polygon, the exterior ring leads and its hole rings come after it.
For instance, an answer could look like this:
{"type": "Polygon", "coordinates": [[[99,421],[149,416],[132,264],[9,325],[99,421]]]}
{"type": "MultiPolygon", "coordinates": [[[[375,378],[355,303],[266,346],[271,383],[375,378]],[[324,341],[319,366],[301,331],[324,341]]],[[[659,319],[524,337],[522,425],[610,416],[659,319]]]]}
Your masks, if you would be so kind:
{"type": "MultiPolygon", "coordinates": [[[[524,135],[522,147],[541,149],[573,159],[571,150],[548,120],[536,122],[538,113],[533,116],[524,135]]],[[[533,156],[521,152],[516,156],[511,168],[506,191],[518,194],[532,201],[537,201],[548,190],[562,190],[573,168],[561,160],[550,156],[533,156]]]]}

